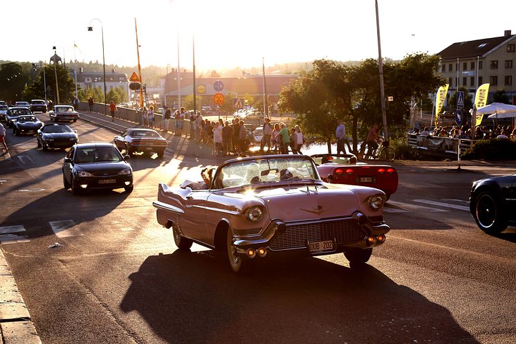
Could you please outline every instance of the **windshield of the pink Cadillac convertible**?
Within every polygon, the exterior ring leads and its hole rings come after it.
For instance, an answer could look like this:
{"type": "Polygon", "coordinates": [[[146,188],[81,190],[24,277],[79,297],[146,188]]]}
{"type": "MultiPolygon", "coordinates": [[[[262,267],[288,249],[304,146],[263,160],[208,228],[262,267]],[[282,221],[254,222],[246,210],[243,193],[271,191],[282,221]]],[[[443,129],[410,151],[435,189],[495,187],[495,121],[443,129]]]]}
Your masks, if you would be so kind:
{"type": "Polygon", "coordinates": [[[235,161],[216,174],[214,188],[232,188],[259,183],[319,179],[311,159],[278,157],[235,161]]]}

